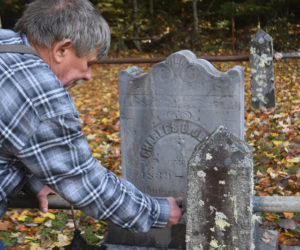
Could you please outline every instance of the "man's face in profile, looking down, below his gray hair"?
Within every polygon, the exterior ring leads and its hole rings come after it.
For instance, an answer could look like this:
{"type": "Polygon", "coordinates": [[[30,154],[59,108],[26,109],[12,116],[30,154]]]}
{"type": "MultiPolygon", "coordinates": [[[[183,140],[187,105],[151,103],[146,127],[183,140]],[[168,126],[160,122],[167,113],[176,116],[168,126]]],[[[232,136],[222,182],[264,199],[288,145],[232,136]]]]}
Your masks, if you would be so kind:
{"type": "MultiPolygon", "coordinates": [[[[91,65],[97,61],[97,50],[83,57],[78,57],[75,50],[69,49],[61,63],[51,67],[55,75],[67,89],[76,81],[89,80],[92,76],[91,65]]],[[[53,65],[52,65],[53,66],[53,65]]]]}

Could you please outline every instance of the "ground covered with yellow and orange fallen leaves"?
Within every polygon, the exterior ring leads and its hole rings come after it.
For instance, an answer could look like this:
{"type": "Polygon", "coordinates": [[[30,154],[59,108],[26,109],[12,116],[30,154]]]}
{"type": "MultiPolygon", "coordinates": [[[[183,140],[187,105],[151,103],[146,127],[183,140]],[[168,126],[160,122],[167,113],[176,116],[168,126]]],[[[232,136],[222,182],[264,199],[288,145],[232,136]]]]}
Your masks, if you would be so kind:
{"type": "MultiPolygon", "coordinates": [[[[145,71],[152,66],[136,65],[145,71]]],[[[274,61],[276,108],[257,110],[251,108],[249,62],[213,62],[213,65],[220,71],[240,65],[245,71],[245,140],[254,148],[255,195],[300,196],[299,59],[274,61]]],[[[94,157],[118,175],[122,169],[117,78],[121,70],[130,66],[96,65],[93,78],[71,90],[94,157]]],[[[88,243],[100,244],[106,224],[80,211],[75,216],[88,243]]],[[[262,227],[279,232],[280,244],[300,246],[299,213],[261,216],[262,227]]],[[[0,221],[0,239],[7,249],[68,245],[73,230],[69,210],[55,209],[42,214],[37,209],[9,209],[0,221]]]]}

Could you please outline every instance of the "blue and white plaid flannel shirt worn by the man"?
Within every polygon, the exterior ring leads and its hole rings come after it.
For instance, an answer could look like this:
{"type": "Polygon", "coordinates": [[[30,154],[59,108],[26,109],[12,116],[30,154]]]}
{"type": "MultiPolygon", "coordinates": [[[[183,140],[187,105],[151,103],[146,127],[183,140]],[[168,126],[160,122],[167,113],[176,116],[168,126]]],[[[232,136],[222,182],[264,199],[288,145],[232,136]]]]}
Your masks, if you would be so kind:
{"type": "MultiPolygon", "coordinates": [[[[26,36],[0,30],[0,44],[26,44],[26,36]]],[[[170,207],[119,179],[93,158],[74,102],[38,56],[0,53],[0,216],[7,195],[26,174],[85,213],[135,231],[166,226],[170,207]]]]}

